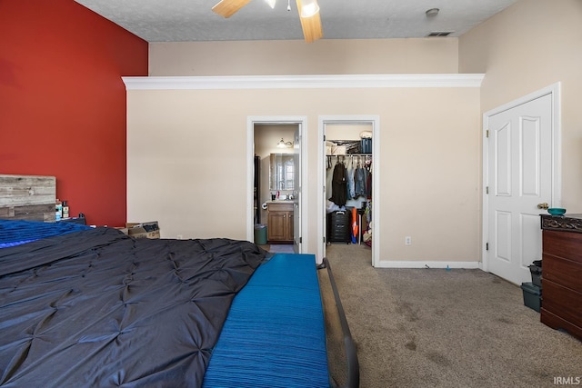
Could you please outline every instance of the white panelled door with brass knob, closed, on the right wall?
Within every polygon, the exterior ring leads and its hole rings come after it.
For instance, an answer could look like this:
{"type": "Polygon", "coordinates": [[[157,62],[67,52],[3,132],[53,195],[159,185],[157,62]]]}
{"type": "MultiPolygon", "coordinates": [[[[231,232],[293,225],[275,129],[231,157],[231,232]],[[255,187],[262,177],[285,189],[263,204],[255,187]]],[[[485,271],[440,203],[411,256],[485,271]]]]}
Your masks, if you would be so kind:
{"type": "Polygon", "coordinates": [[[487,271],[509,282],[531,282],[541,260],[539,214],[551,207],[552,95],[488,118],[487,271]],[[540,207],[538,207],[538,205],[540,207]]]}

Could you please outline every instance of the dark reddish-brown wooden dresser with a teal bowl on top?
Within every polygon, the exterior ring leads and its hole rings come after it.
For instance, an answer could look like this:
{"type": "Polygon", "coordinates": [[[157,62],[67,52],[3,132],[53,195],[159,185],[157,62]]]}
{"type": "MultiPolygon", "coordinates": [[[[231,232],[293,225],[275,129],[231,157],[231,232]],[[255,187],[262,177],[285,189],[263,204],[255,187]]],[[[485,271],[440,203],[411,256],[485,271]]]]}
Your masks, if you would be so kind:
{"type": "Polygon", "coordinates": [[[582,214],[543,214],[541,224],[541,322],[582,340],[582,214]]]}

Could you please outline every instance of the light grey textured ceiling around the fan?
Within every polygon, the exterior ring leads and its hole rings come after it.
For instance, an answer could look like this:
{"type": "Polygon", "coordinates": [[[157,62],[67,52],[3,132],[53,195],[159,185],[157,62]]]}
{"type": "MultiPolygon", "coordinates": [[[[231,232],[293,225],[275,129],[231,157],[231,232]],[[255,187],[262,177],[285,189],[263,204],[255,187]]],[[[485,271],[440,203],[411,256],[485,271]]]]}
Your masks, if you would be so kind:
{"type": "MultiPolygon", "coordinates": [[[[303,39],[296,0],[252,0],[228,19],[218,0],[75,0],[147,42],[303,39]]],[[[460,36],[517,0],[318,0],[324,39],[460,36]],[[426,17],[439,8],[435,17],[426,17]]]]}

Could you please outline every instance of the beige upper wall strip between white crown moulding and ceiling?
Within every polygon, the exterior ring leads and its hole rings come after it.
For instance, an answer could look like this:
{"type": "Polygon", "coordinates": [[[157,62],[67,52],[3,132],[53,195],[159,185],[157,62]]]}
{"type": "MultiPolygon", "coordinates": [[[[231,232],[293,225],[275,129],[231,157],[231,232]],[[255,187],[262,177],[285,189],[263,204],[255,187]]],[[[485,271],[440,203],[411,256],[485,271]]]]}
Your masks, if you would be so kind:
{"type": "Polygon", "coordinates": [[[152,43],[149,75],[457,73],[457,38],[152,43]]]}

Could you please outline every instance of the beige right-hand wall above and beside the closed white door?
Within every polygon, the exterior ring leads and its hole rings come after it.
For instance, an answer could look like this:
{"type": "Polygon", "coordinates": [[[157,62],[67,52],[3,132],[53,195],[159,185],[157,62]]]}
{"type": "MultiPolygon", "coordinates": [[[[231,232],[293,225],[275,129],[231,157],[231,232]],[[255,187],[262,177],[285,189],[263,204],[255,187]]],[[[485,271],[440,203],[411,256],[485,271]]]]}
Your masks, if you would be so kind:
{"type": "Polygon", "coordinates": [[[482,113],[561,83],[562,205],[568,213],[582,213],[581,69],[580,0],[521,0],[459,38],[460,72],[486,74],[482,113]]]}

